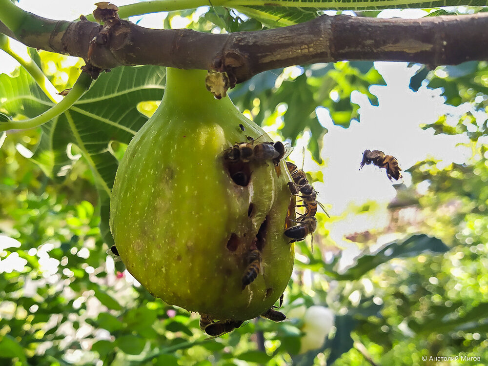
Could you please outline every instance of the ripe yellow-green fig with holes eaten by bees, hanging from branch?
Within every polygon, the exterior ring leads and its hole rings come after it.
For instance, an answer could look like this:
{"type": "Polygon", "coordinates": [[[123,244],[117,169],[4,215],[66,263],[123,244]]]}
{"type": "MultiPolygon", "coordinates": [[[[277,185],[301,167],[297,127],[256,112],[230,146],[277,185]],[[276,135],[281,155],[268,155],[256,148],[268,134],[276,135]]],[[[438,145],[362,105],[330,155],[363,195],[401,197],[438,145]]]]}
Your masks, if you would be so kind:
{"type": "Polygon", "coordinates": [[[246,136],[271,140],[228,97],[214,99],[205,76],[167,69],[163,100],[117,171],[110,228],[127,270],[153,296],[213,319],[247,320],[269,309],[291,276],[294,244],[284,235],[289,207],[295,215],[291,176],[283,161],[278,169],[251,162],[249,184],[232,181],[224,149],[246,136]],[[243,289],[260,227],[261,271],[243,289]]]}

